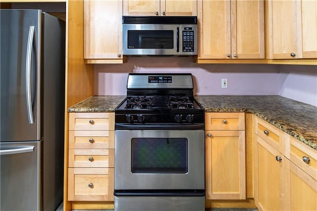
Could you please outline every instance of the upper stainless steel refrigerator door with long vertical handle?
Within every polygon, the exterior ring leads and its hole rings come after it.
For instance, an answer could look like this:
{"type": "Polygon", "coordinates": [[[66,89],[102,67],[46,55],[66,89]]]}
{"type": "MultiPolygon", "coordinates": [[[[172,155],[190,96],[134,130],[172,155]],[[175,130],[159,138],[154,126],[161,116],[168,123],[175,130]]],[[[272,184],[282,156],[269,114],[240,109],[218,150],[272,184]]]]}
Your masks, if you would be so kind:
{"type": "Polygon", "coordinates": [[[0,11],[1,142],[42,139],[41,10],[0,11]]]}

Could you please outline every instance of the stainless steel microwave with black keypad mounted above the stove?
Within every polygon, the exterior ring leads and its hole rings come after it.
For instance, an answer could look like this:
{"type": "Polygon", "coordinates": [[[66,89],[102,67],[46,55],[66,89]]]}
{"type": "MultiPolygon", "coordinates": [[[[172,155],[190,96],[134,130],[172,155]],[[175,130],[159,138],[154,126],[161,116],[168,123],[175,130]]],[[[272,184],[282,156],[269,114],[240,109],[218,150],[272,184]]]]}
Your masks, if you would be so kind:
{"type": "Polygon", "coordinates": [[[197,55],[197,16],[122,16],[123,55],[197,55]]]}

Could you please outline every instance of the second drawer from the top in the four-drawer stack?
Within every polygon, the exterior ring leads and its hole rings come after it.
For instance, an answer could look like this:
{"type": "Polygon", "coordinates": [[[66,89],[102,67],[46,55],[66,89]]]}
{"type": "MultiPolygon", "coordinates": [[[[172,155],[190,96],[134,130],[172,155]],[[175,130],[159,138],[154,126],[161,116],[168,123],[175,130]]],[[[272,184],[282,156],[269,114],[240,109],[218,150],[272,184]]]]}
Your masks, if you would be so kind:
{"type": "Polygon", "coordinates": [[[114,149],[114,130],[70,130],[68,149],[114,149]]]}

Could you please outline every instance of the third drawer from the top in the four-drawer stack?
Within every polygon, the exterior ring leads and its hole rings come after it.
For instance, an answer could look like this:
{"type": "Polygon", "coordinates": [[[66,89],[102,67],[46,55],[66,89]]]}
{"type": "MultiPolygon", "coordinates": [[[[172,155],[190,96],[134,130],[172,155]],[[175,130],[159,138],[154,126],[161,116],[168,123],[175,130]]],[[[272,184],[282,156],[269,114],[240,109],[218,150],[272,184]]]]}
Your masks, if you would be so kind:
{"type": "Polygon", "coordinates": [[[114,167],[114,149],[69,149],[68,167],[114,167]]]}

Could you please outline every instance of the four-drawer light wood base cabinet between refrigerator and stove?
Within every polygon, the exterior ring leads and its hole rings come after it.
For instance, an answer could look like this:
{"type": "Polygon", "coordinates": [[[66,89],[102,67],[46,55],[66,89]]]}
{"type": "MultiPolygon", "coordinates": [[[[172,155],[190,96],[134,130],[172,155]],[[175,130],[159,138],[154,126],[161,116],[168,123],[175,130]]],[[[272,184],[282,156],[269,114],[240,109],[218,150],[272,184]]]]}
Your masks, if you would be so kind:
{"type": "Polygon", "coordinates": [[[113,201],[114,113],[69,113],[68,201],[113,201]]]}

